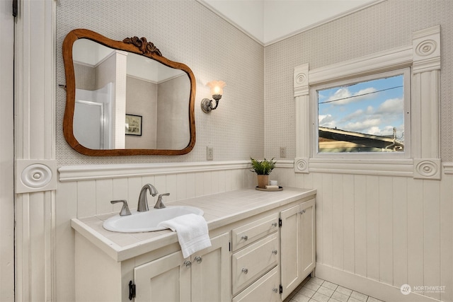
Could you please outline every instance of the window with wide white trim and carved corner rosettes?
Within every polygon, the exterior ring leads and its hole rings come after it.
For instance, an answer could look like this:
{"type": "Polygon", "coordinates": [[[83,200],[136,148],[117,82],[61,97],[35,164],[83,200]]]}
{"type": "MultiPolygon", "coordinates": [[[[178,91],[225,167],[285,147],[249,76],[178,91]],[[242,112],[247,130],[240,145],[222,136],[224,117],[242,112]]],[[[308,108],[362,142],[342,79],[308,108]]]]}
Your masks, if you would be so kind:
{"type": "MultiPolygon", "coordinates": [[[[436,25],[414,32],[412,42],[412,45],[405,47],[375,52],[316,69],[309,69],[309,63],[294,66],[294,108],[296,110],[294,171],[296,173],[392,175],[440,180],[442,174],[438,108],[440,101],[440,26],[436,25]],[[403,128],[399,130],[397,118],[391,117],[389,112],[384,110],[389,109],[384,108],[384,100],[382,103],[377,103],[379,105],[369,105],[371,106],[369,111],[367,111],[369,106],[362,108],[353,108],[353,105],[348,104],[340,106],[341,100],[338,98],[331,98],[330,100],[336,100],[336,102],[324,105],[329,110],[323,108],[323,104],[319,104],[318,95],[322,97],[323,94],[326,94],[326,99],[321,98],[321,103],[326,102],[340,88],[348,88],[350,93],[343,98],[354,96],[355,103],[362,103],[357,100],[365,98],[365,95],[359,97],[359,91],[362,90],[361,94],[364,94],[363,90],[369,87],[357,86],[358,90],[352,91],[355,84],[369,84],[377,79],[384,79],[383,82],[386,82],[385,79],[392,77],[402,79],[403,83],[403,109],[400,105],[399,110],[393,111],[396,116],[401,116],[401,112],[403,112],[403,123],[399,123],[403,124],[403,128]],[[336,88],[336,90],[328,91],[331,88],[336,88]],[[357,95],[354,95],[355,93],[357,95]],[[337,104],[333,105],[333,103],[337,104]],[[365,116],[367,113],[372,113],[372,110],[377,112],[379,107],[380,113],[382,113],[379,118],[384,120],[385,126],[388,127],[378,126],[372,115],[365,116]],[[348,116],[336,115],[341,110],[348,108],[350,108],[348,116]],[[357,117],[352,115],[353,112],[356,112],[357,117]],[[363,114],[359,115],[361,112],[363,114]],[[358,120],[361,117],[367,117],[367,119],[358,120]],[[330,124],[329,118],[331,119],[330,124]],[[334,118],[337,119],[336,122],[332,122],[334,118]],[[343,124],[339,122],[340,120],[345,120],[346,124],[350,122],[350,127],[341,129],[343,124]],[[359,127],[360,121],[369,123],[369,127],[359,127]],[[359,141],[352,141],[353,144],[356,143],[352,145],[354,149],[351,147],[349,150],[335,150],[335,148],[324,149],[324,146],[321,146],[320,152],[320,125],[321,130],[323,127],[330,128],[328,131],[332,132],[332,136],[334,130],[343,130],[343,133],[340,134],[350,134],[350,137],[358,137],[362,134],[365,139],[371,140],[377,139],[376,134],[378,134],[381,140],[383,140],[382,137],[394,137],[398,141],[395,141],[397,144],[394,146],[384,145],[384,150],[378,148],[379,151],[360,149],[365,147],[357,146],[359,141]],[[375,132],[369,131],[372,127],[378,127],[379,131],[377,131],[378,128],[374,128],[375,132]],[[393,131],[394,127],[396,128],[394,136],[392,133],[384,132],[384,129],[393,131]],[[372,137],[373,135],[375,137],[372,137]]],[[[370,90],[368,96],[383,94],[385,91],[379,90],[387,88],[389,88],[388,91],[394,92],[397,90],[397,88],[392,88],[394,86],[387,84],[382,86],[386,88],[372,87],[376,93],[370,90]]],[[[389,96],[391,97],[391,95],[389,96]]],[[[343,103],[347,102],[343,100],[343,103]]],[[[386,105],[389,103],[391,102],[389,101],[386,105]]],[[[321,140],[323,135],[327,136],[326,133],[321,133],[321,140]]],[[[352,140],[347,139],[348,137],[343,137],[343,139],[334,137],[331,141],[350,142],[352,140]]]]}

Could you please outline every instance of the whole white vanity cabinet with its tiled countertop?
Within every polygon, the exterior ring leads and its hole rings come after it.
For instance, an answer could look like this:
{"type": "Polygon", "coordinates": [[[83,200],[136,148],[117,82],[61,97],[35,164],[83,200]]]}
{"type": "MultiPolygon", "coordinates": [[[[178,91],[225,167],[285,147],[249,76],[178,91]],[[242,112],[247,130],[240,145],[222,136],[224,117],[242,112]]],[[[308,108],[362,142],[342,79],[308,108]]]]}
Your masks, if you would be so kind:
{"type": "Polygon", "coordinates": [[[132,302],[282,302],[316,265],[315,194],[244,189],[184,200],[205,211],[212,243],[188,258],[171,231],[112,233],[105,216],[73,219],[76,301],[129,302],[132,292],[132,302]]]}

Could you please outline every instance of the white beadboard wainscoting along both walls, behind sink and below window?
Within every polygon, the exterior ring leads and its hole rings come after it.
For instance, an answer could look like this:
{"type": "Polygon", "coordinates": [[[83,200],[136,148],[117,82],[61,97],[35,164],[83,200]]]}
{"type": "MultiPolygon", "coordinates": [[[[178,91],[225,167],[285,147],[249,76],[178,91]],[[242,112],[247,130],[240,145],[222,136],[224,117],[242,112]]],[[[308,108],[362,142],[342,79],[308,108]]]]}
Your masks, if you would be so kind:
{"type": "MultiPolygon", "coordinates": [[[[56,269],[57,301],[74,299],[71,218],[119,211],[110,205],[113,199],[127,199],[135,208],[139,190],[148,182],[159,193],[170,192],[168,201],[256,185],[248,161],[188,165],[150,164],[137,171],[139,176],[122,166],[59,169],[64,181],[58,183],[56,204],[56,261],[62,264],[56,269]],[[84,172],[77,176],[76,170],[84,172]]],[[[444,163],[444,172],[449,166],[444,163]]],[[[318,190],[318,277],[387,302],[453,301],[453,175],[442,174],[442,180],[301,174],[294,173],[292,161],[279,161],[270,178],[284,187],[318,190]],[[445,291],[403,296],[403,284],[445,286],[445,291]]]]}

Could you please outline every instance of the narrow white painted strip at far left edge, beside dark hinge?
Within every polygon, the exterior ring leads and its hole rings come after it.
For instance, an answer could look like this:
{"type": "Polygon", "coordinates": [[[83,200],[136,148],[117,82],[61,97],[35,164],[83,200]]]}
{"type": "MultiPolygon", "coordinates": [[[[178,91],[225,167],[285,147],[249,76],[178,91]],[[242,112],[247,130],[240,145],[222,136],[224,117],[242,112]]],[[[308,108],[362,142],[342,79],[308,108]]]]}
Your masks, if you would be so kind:
{"type": "Polygon", "coordinates": [[[11,2],[0,1],[0,301],[14,301],[13,39],[11,2]]]}

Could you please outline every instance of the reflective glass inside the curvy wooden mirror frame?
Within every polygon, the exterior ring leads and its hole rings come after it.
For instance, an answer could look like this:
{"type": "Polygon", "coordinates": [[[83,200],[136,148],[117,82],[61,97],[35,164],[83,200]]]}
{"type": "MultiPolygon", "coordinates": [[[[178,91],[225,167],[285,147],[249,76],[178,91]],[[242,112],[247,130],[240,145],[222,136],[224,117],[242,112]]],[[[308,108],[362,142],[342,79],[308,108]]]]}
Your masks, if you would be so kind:
{"type": "Polygon", "coordinates": [[[132,52],[79,39],[73,45],[74,137],[88,149],[184,149],[190,79],[132,52]]]}

